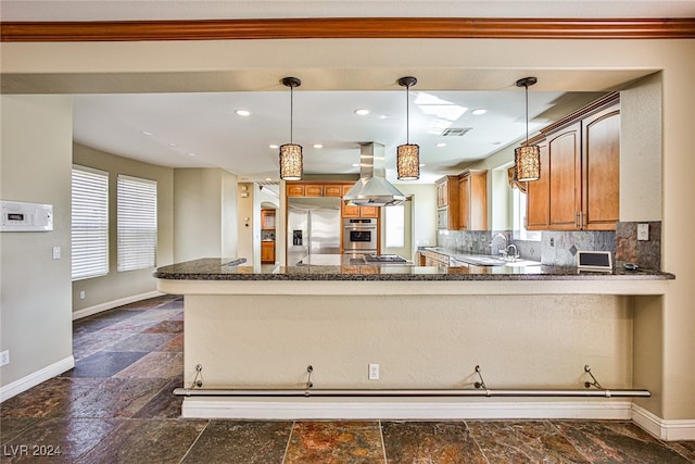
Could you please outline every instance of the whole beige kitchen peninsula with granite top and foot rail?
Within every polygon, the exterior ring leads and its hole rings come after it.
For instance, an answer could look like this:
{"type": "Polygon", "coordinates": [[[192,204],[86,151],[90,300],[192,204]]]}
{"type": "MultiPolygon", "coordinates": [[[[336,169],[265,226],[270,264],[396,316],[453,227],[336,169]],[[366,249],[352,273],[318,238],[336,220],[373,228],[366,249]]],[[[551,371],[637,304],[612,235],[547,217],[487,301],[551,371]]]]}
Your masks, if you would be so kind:
{"type": "MultiPolygon", "coordinates": [[[[659,390],[658,381],[635,377],[633,309],[636,300],[660,298],[671,274],[229,261],[154,273],[160,291],[185,294],[186,388],[308,389],[311,380],[313,388],[466,389],[479,380],[478,365],[488,388],[582,388],[591,365],[606,388],[659,390]],[[369,364],[380,365],[379,379],[368,378],[369,364]]],[[[629,418],[632,404],[307,397],[191,396],[182,415],[629,418]]]]}

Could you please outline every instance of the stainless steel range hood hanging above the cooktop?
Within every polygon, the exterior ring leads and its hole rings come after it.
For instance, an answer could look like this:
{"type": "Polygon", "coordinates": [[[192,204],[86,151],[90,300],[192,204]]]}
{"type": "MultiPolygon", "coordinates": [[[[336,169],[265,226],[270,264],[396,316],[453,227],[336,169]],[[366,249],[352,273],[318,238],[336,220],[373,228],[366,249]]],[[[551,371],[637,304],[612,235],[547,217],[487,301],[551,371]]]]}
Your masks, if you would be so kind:
{"type": "Polygon", "coordinates": [[[386,179],[384,147],[363,143],[359,148],[359,180],[343,197],[358,206],[393,206],[405,201],[405,195],[386,179]]]}

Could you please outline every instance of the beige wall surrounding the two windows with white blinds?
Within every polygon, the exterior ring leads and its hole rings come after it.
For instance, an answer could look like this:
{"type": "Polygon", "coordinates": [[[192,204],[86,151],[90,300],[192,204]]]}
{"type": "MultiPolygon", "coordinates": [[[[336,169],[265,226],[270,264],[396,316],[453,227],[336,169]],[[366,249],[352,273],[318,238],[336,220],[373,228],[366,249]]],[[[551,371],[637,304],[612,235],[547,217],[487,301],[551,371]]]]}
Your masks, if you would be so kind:
{"type": "Polygon", "coordinates": [[[153,268],[126,273],[117,269],[116,183],[118,174],[156,180],[156,266],[163,266],[174,262],[174,170],[116,156],[79,143],[73,147],[73,163],[109,173],[109,275],[73,283],[73,311],[90,313],[134,296],[155,292],[153,268]],[[84,300],[79,298],[80,291],[85,291],[84,300]]]}

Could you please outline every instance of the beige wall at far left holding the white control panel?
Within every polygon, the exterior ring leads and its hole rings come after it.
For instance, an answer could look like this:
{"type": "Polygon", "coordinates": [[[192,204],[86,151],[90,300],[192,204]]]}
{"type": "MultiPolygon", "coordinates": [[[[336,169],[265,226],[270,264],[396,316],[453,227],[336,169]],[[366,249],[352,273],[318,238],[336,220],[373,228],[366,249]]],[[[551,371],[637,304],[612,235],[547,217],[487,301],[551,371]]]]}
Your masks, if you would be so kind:
{"type": "Polygon", "coordinates": [[[54,376],[73,363],[73,104],[68,96],[2,96],[0,103],[0,198],[53,205],[52,231],[0,233],[0,350],[10,351],[10,364],[0,367],[4,398],[13,383],[54,376]]]}

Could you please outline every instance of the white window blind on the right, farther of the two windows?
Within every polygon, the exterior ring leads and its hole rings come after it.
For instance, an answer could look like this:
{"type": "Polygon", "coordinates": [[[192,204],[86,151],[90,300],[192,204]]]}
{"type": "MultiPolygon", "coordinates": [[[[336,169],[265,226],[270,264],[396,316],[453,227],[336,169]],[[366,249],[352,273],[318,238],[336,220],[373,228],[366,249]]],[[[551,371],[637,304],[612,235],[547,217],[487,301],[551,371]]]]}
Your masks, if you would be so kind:
{"type": "Polygon", "coordinates": [[[154,267],[156,181],[118,175],[118,272],[154,267]]]}

